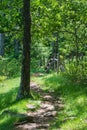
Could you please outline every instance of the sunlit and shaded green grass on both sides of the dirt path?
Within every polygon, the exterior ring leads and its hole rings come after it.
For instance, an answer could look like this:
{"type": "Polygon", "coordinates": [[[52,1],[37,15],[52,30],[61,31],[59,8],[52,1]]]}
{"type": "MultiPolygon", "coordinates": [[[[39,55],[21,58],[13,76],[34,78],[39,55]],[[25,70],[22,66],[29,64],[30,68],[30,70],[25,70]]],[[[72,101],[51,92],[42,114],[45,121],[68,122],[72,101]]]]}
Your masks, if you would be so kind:
{"type": "MultiPolygon", "coordinates": [[[[31,80],[40,84],[44,91],[53,91],[55,98],[61,97],[63,100],[64,109],[57,112],[50,130],[87,130],[87,84],[77,84],[57,74],[31,77],[31,80]]],[[[0,86],[0,130],[13,130],[13,125],[19,118],[2,113],[5,110],[26,113],[27,104],[33,104],[38,108],[41,99],[38,94],[33,93],[33,100],[15,102],[20,79],[3,78],[0,83],[2,84],[0,86]]]]}

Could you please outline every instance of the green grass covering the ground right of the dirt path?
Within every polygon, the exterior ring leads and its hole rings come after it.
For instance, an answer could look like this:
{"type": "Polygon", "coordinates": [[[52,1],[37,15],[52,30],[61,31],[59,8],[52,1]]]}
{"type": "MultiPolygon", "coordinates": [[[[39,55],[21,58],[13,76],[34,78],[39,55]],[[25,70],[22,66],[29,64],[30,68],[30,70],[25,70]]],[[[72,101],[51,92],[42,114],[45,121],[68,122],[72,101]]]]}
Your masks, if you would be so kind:
{"type": "Polygon", "coordinates": [[[56,98],[61,96],[63,99],[64,109],[58,111],[50,130],[87,130],[87,84],[77,84],[57,74],[34,80],[46,91],[54,91],[56,98]]]}

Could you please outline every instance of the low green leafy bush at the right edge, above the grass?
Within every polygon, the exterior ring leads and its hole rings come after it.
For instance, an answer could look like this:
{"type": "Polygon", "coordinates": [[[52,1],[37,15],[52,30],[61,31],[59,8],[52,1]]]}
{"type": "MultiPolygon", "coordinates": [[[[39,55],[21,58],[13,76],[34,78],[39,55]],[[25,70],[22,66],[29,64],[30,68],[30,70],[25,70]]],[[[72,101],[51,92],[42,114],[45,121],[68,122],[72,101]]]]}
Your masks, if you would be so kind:
{"type": "Polygon", "coordinates": [[[86,69],[86,62],[82,62],[78,66],[75,62],[66,65],[66,71],[63,73],[66,77],[68,77],[73,82],[86,82],[87,81],[87,69],[86,69]]]}

